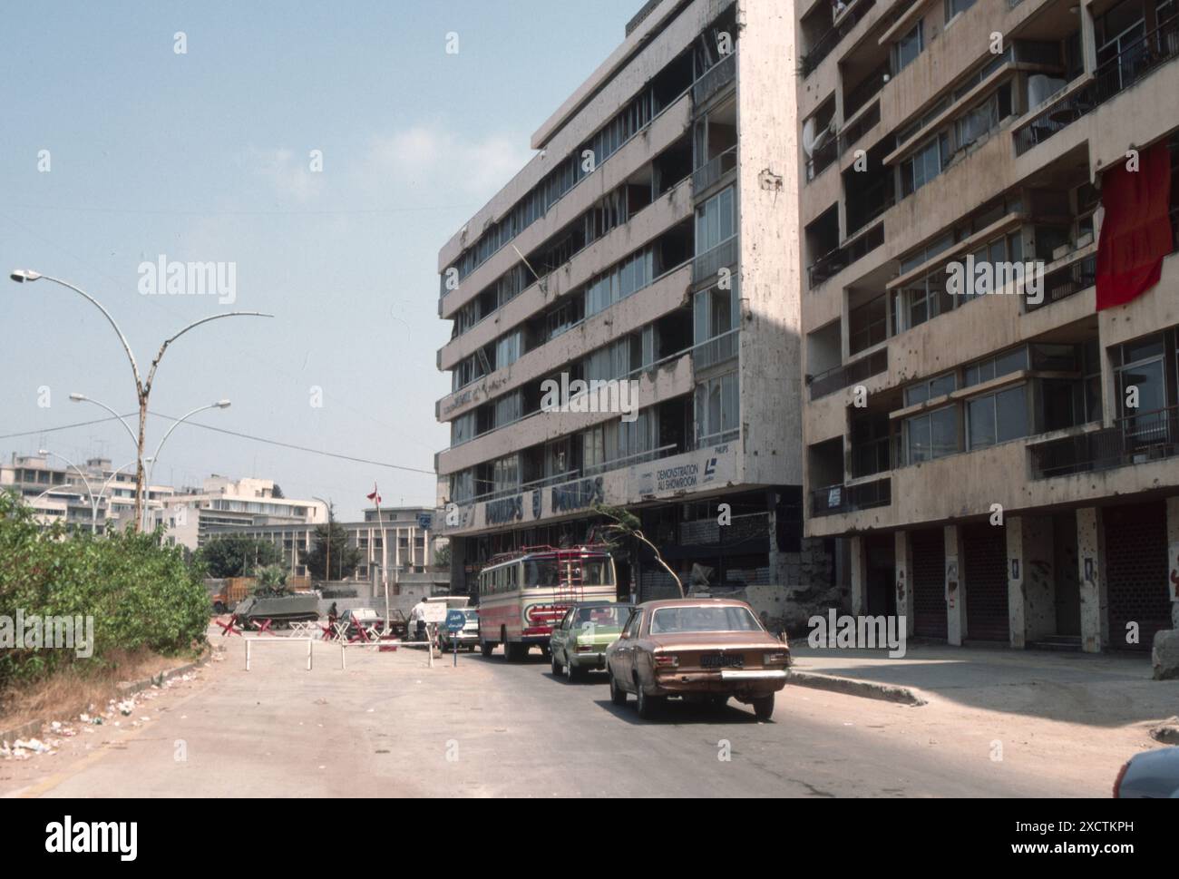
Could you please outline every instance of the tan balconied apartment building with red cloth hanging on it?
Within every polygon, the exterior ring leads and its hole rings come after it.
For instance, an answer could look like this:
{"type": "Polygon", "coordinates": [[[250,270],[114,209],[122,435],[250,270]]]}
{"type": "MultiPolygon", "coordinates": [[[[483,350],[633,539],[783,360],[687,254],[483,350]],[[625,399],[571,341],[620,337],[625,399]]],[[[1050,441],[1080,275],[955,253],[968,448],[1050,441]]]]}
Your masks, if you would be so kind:
{"type": "Polygon", "coordinates": [[[855,612],[1086,651],[1179,628],[1177,12],[795,6],[806,534],[848,540],[855,612]]]}

